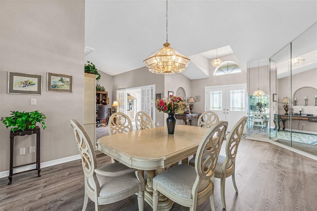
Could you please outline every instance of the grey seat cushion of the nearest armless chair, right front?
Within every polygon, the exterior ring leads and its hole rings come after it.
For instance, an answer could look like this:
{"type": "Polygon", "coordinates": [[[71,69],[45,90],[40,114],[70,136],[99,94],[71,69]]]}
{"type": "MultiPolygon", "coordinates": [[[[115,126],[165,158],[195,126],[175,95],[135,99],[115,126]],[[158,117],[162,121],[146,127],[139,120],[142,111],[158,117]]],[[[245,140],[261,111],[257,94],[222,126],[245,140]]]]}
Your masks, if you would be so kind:
{"type": "MultiPolygon", "coordinates": [[[[153,178],[153,181],[179,197],[192,199],[192,188],[197,174],[195,167],[187,164],[180,164],[163,171],[153,178]]],[[[203,180],[198,192],[204,190],[210,180],[203,180]]]]}

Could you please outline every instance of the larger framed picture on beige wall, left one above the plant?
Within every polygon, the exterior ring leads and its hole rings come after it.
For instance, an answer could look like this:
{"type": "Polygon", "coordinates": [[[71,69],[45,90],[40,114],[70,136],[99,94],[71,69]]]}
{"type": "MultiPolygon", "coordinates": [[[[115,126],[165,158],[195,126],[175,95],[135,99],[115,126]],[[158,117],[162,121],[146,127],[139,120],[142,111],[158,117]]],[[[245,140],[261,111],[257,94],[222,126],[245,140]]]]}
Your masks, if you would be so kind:
{"type": "Polygon", "coordinates": [[[8,94],[42,95],[42,75],[8,72],[8,94]]]}

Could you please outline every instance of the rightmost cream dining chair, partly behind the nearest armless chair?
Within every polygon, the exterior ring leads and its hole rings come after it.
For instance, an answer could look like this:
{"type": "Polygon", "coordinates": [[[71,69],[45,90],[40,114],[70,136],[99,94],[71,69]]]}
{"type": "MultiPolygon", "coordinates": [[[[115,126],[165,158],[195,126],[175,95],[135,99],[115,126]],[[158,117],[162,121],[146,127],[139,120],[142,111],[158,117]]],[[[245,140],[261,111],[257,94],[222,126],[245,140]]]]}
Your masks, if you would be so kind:
{"type": "Polygon", "coordinates": [[[246,125],[248,117],[242,117],[231,129],[228,140],[226,143],[226,156],[219,155],[216,170],[214,172],[215,178],[220,178],[220,192],[221,192],[221,201],[222,207],[226,208],[225,201],[225,181],[226,178],[231,176],[234,189],[238,193],[238,188],[235,180],[235,166],[236,166],[236,157],[238,147],[242,138],[244,126],[246,125]]]}

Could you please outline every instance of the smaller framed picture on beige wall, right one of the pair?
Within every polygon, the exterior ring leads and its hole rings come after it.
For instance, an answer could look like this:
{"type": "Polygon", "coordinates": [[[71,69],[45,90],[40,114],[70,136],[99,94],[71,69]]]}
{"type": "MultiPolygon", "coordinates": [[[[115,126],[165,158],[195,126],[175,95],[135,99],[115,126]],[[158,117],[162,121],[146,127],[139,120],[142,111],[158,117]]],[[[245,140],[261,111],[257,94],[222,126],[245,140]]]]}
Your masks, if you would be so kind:
{"type": "Polygon", "coordinates": [[[48,92],[73,92],[73,76],[48,72],[48,92]]]}

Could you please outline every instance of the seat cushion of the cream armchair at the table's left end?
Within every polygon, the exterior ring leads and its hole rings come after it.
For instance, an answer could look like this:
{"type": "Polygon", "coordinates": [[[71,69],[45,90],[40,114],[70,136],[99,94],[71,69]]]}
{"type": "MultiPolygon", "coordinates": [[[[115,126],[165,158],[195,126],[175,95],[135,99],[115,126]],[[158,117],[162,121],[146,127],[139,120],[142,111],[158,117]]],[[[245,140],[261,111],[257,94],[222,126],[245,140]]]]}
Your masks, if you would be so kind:
{"type": "MultiPolygon", "coordinates": [[[[124,199],[122,192],[131,190],[140,186],[135,173],[129,173],[123,176],[108,177],[97,174],[97,179],[100,184],[101,197],[115,197],[124,199]]],[[[93,178],[89,178],[89,184],[93,187],[93,178]]]]}

